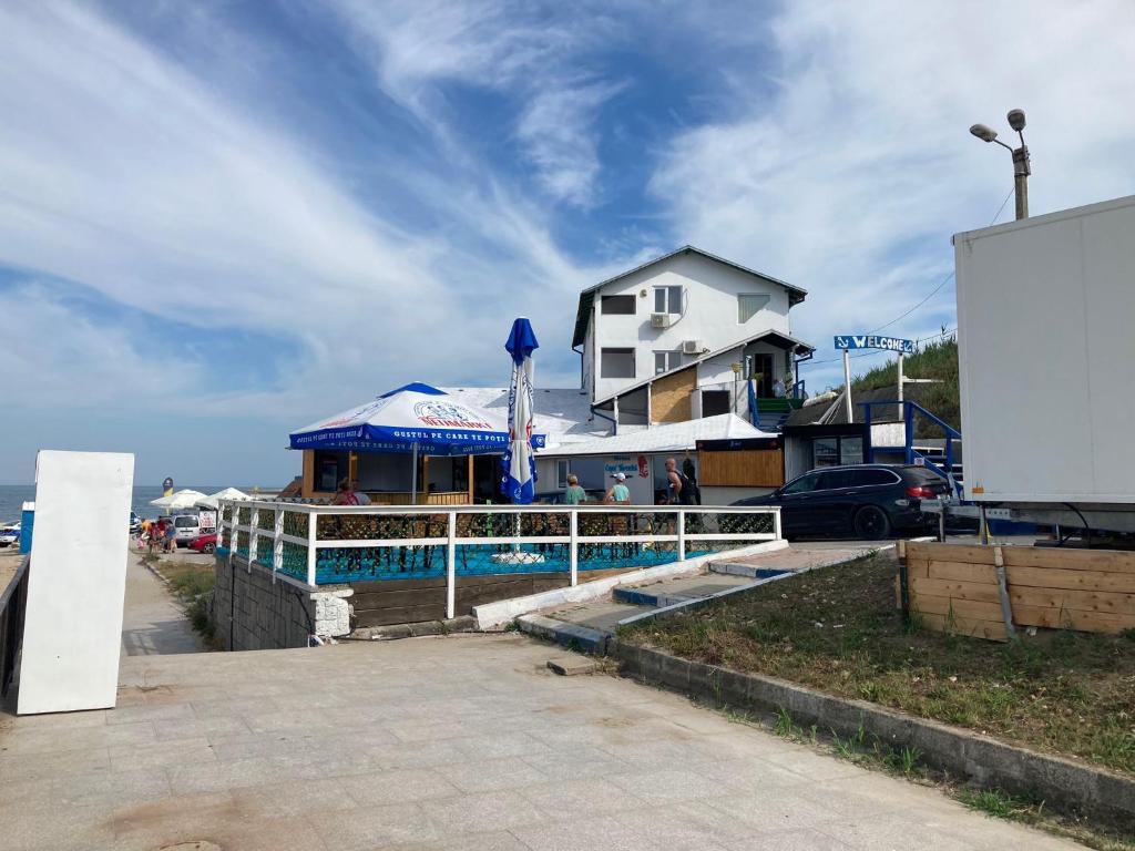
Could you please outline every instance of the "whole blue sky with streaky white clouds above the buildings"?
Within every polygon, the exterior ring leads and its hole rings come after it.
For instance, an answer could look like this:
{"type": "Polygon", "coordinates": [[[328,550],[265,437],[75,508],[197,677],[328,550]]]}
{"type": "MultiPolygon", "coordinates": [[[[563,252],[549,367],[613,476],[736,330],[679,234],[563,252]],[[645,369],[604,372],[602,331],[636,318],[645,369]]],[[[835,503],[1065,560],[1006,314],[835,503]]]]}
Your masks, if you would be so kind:
{"type": "Polygon", "coordinates": [[[972,124],[1026,111],[1033,214],[1135,192],[1130,0],[7,0],[0,56],[9,483],[281,485],[292,429],[505,385],[516,315],[578,386],[579,290],[684,244],[808,289],[823,389],[953,327],[1014,210],[972,124]]]}

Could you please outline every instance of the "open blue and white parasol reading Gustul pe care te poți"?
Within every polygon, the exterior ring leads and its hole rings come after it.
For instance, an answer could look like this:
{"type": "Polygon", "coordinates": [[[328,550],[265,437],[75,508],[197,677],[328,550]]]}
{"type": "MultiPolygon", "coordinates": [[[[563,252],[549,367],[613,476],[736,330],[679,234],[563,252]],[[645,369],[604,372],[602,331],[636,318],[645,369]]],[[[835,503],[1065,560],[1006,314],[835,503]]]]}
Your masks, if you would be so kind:
{"type": "Polygon", "coordinates": [[[414,382],[293,431],[289,444],[293,449],[406,453],[413,465],[411,499],[417,503],[419,455],[502,453],[508,446],[508,427],[497,414],[414,382]]]}

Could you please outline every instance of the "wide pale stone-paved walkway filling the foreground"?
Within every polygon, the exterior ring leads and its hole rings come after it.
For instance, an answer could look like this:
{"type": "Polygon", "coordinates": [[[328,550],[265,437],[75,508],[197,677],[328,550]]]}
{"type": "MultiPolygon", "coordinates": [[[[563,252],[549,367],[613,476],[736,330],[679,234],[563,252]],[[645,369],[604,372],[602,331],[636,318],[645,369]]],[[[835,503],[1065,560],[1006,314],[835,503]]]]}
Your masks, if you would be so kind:
{"type": "Polygon", "coordinates": [[[1073,848],[513,634],[124,659],[117,709],[0,716],[0,846],[1073,848]]]}

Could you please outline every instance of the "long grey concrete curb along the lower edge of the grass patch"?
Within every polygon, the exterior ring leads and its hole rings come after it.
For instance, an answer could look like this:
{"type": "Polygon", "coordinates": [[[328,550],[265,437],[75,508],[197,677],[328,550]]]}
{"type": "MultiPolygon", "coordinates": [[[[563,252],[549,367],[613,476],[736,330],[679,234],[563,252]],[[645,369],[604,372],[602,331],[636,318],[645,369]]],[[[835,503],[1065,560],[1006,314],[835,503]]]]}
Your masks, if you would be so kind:
{"type": "Polygon", "coordinates": [[[1135,780],[1103,768],[1046,756],[968,730],[916,718],[861,700],[823,694],[759,674],[672,656],[612,640],[607,651],[620,672],[707,701],[763,711],[787,710],[796,724],[841,735],[863,728],[892,747],[913,747],[926,762],[982,786],[1034,797],[1050,808],[1087,815],[1135,832],[1135,780]]]}

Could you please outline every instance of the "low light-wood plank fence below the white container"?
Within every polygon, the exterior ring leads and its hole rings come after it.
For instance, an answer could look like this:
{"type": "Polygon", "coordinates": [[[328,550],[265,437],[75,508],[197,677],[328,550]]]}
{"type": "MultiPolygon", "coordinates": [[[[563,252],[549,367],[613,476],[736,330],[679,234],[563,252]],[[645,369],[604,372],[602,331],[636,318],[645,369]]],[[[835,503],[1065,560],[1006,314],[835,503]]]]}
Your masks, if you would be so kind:
{"type": "Polygon", "coordinates": [[[928,629],[1008,640],[999,566],[1016,626],[1135,629],[1135,553],[928,542],[905,550],[910,610],[928,629]]]}

